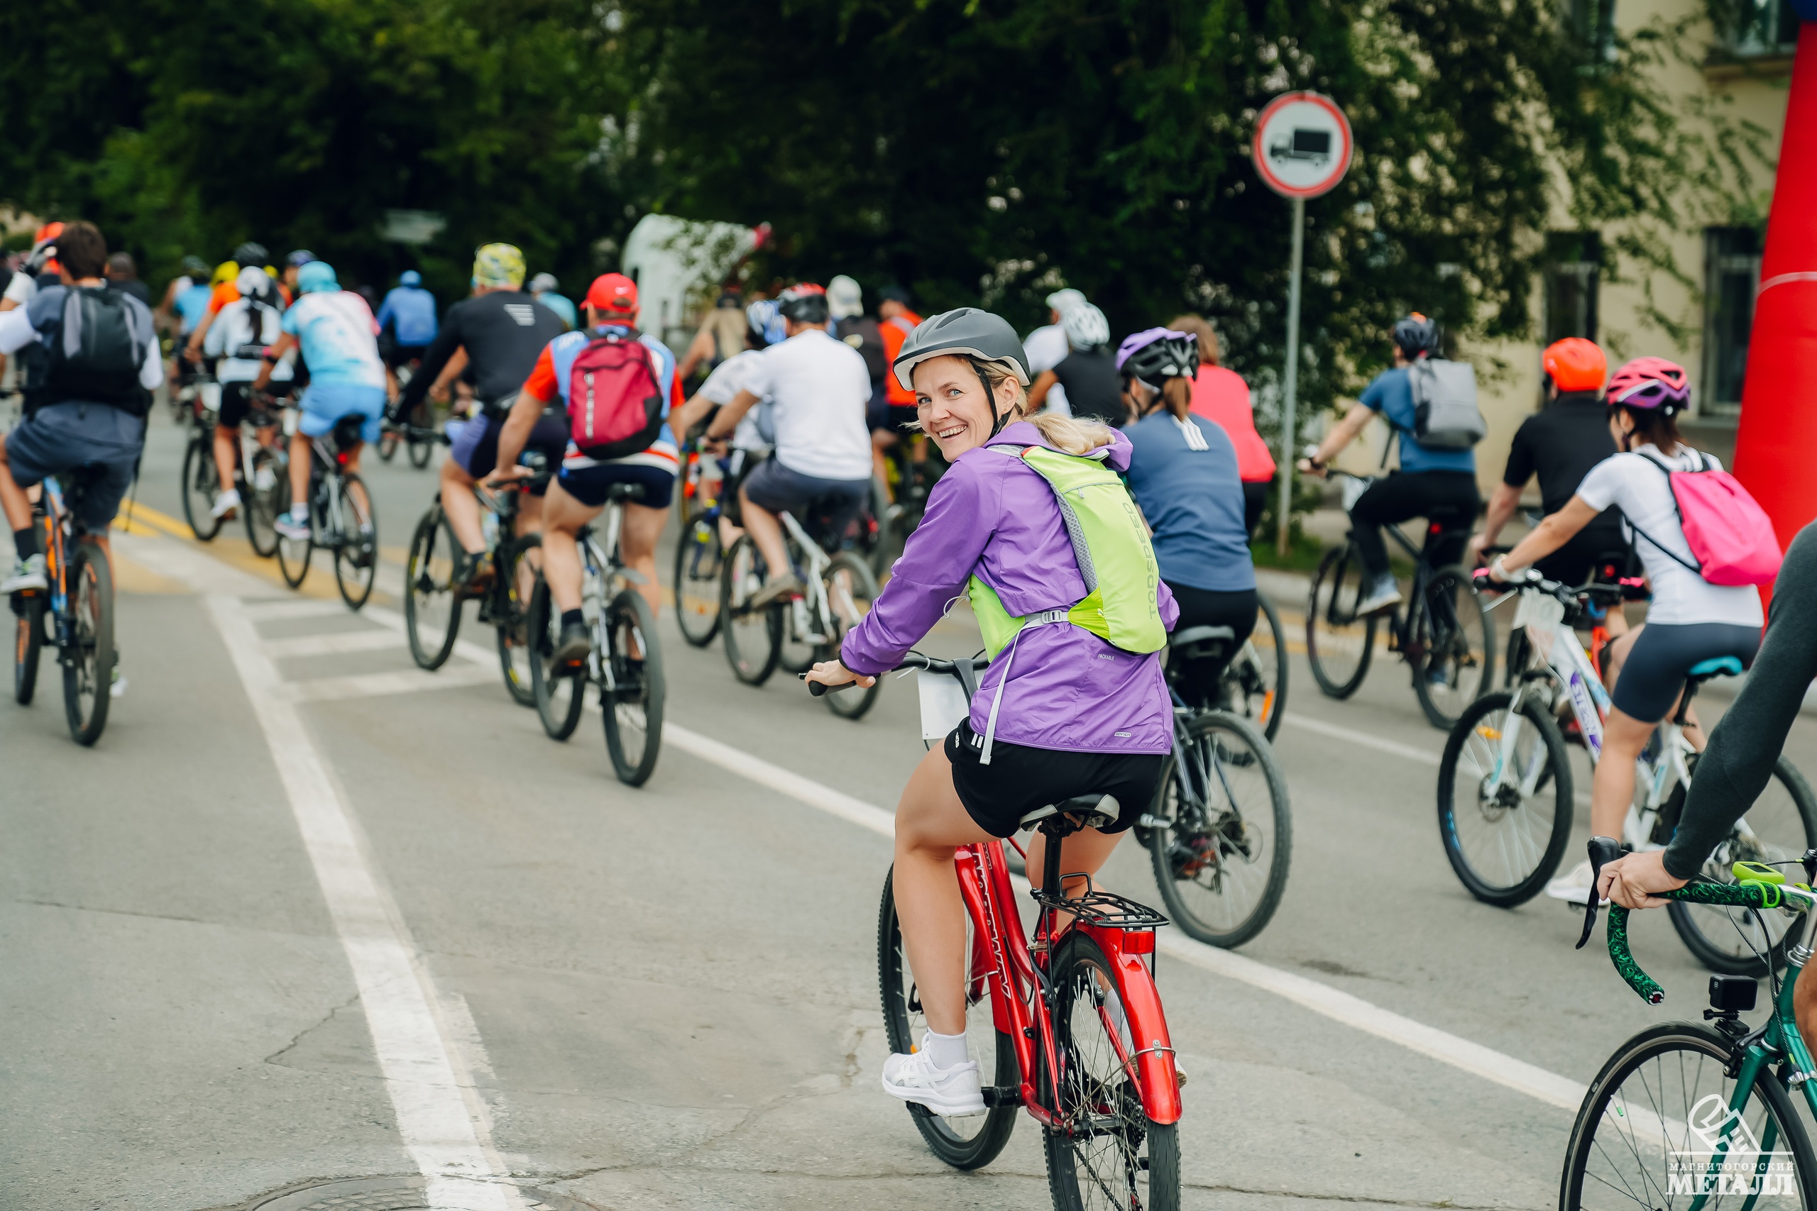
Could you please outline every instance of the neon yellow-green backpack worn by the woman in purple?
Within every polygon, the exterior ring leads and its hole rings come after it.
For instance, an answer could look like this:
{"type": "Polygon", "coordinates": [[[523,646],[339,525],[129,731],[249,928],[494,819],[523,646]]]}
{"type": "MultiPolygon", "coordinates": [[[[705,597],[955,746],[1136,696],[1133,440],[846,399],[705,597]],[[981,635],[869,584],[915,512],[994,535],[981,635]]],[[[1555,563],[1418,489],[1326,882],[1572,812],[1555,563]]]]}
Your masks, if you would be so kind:
{"type": "Polygon", "coordinates": [[[1010,650],[1003,679],[998,681],[996,699],[990,703],[990,719],[985,724],[985,748],[979,755],[983,764],[990,764],[990,746],[998,732],[998,706],[1003,704],[1003,686],[1010,679],[1008,665],[1016,659],[1016,641],[1028,626],[1072,623],[1105,643],[1137,655],[1167,646],[1167,626],[1161,625],[1161,608],[1156,603],[1161,568],[1154,561],[1148,527],[1143,523],[1134,497],[1130,497],[1123,479],[1103,463],[1110,447],[1097,447],[1096,458],[1076,458],[1047,447],[996,445],[988,448],[1019,458],[1054,488],[1059,516],[1072,539],[1072,554],[1079,561],[1085,599],[1067,610],[1043,610],[1016,617],[1003,606],[996,590],[976,574],[967,581],[965,596],[972,603],[972,614],[978,615],[978,626],[985,635],[985,652],[996,661],[1005,646],[1010,650]]]}

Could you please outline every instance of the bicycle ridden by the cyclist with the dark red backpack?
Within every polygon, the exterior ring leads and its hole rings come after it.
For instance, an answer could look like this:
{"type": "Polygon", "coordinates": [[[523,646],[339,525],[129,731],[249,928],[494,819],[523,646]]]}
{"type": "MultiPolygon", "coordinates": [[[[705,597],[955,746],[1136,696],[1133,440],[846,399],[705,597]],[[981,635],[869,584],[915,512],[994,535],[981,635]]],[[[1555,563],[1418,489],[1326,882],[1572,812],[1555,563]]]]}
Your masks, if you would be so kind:
{"type": "Polygon", "coordinates": [[[618,536],[625,521],[625,501],[643,497],[643,485],[614,483],[598,521],[578,537],[581,590],[580,608],[592,634],[592,648],[580,668],[558,668],[551,655],[561,635],[561,610],[549,596],[541,572],[531,590],[525,630],[534,635],[531,692],[543,732],[565,741],[574,735],[580,712],[587,704],[587,684],[600,686],[600,714],[605,717],[605,750],[620,783],[643,786],[656,770],[663,743],[663,650],[656,639],[656,615],[638,592],[643,577],[625,566],[618,554],[618,536]]]}

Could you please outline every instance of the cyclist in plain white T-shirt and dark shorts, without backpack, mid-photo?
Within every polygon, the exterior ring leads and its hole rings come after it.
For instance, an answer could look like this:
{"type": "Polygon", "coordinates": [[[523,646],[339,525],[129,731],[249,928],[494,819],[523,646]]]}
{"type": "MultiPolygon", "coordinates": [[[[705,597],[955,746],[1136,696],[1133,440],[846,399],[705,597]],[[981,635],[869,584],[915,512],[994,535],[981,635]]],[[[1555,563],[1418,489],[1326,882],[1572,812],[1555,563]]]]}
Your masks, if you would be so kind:
{"type": "Polygon", "coordinates": [[[718,439],[765,396],[776,423],[776,452],[745,479],[738,505],[769,576],[752,599],[763,606],[801,592],[789,566],[781,521],[789,512],[809,532],[836,543],[870,496],[870,372],[850,345],[827,334],[827,290],[798,285],[778,298],[789,338],[752,363],[732,403],[707,425],[718,439]]]}

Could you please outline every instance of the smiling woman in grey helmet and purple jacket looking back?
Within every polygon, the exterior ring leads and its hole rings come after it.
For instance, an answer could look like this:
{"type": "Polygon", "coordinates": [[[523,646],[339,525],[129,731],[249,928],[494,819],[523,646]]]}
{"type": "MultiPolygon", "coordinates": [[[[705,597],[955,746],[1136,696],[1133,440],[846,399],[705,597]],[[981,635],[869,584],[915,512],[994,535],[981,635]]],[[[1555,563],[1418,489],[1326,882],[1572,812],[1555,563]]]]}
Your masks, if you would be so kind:
{"type": "MultiPolygon", "coordinates": [[[[974,574],[1012,615],[1085,599],[1054,488],[1021,458],[983,447],[1072,456],[1108,447],[1094,458],[1128,468],[1128,438],[1107,425],[1052,412],[1023,419],[1028,361],[999,316],[961,307],[923,321],[903,343],[894,374],[914,390],[919,428],[952,467],[839,659],[809,674],[823,684],[854,675],[872,684],[965,596],[974,574]]],[[[1177,610],[1159,581],[1156,599],[1161,623],[1172,628],[1177,610]]],[[[914,1055],[885,1062],[887,1093],[941,1115],[983,1109],[978,1064],[965,1048],[967,917],[954,850],[1008,837],[1023,815],[1050,802],[1107,793],[1123,806],[1116,824],[1067,841],[1067,870],[1096,871],[1154,799],[1172,733],[1159,654],[1125,652],[1081,626],[1028,626],[1012,659],[985,670],[970,717],[927,753],[896,808],[896,911],[928,1033],[914,1055]],[[1014,670],[1007,684],[1003,668],[1014,670]]],[[[1041,844],[1036,837],[1030,875],[1041,871],[1041,844]]]]}

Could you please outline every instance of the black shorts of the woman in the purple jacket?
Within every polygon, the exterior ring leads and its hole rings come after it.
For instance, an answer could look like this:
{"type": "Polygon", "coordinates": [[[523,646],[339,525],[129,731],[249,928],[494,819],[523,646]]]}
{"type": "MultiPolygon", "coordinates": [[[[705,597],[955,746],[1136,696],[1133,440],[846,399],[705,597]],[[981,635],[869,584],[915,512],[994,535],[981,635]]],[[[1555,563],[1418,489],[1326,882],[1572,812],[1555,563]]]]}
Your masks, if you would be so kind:
{"type": "Polygon", "coordinates": [[[979,828],[992,837],[1010,837],[1021,817],[1074,795],[1116,795],[1121,812],[1103,828],[1119,833],[1154,804],[1161,784],[1161,753],[1079,753],[1028,744],[990,744],[990,764],[978,759],[985,737],[965,719],[947,735],[952,788],[979,828]]]}

